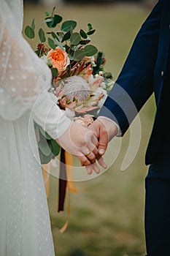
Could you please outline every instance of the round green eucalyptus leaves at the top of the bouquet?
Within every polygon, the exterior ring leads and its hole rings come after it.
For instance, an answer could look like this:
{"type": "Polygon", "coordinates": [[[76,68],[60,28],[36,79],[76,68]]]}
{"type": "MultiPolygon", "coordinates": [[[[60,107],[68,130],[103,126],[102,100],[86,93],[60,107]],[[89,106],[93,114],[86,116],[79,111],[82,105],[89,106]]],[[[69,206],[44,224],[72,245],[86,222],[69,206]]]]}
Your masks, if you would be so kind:
{"type": "MultiPolygon", "coordinates": [[[[85,55],[93,56],[97,53],[98,50],[95,46],[88,45],[91,42],[89,36],[96,31],[93,29],[92,24],[88,23],[87,31],[84,29],[74,31],[74,29],[77,28],[77,22],[75,20],[63,20],[61,15],[55,14],[55,7],[53,7],[51,15],[49,12],[45,12],[42,26],[45,25],[47,26],[47,29],[40,28],[38,32],[40,42],[45,43],[45,34],[50,35],[51,37],[47,37],[47,47],[55,49],[59,46],[61,49],[66,50],[70,60],[75,58],[75,61],[81,61],[85,55]],[[61,21],[63,21],[63,23],[61,23],[61,21]],[[84,45],[85,50],[82,50],[82,46],[84,47],[84,45]]],[[[31,26],[26,26],[26,37],[33,39],[35,37],[34,30],[35,20],[32,20],[31,26]]],[[[36,50],[36,53],[39,56],[38,50],[36,50]]]]}

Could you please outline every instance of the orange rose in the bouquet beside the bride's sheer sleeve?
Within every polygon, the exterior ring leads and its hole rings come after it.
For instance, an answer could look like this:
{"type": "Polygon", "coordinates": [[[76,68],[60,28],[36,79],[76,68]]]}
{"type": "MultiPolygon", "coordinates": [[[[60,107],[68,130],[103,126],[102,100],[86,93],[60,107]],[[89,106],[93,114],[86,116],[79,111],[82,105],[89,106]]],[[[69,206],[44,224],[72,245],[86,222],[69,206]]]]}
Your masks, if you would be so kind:
{"type": "Polygon", "coordinates": [[[58,69],[58,72],[62,72],[69,65],[69,57],[65,50],[59,46],[55,50],[50,50],[47,54],[47,58],[52,61],[53,67],[58,69]]]}

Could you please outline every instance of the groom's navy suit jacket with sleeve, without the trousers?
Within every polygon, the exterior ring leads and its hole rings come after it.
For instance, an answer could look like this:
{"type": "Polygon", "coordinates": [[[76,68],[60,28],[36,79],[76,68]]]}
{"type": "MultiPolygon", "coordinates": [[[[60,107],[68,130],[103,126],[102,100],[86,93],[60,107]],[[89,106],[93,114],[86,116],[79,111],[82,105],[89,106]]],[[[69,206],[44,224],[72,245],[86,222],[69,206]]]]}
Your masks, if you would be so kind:
{"type": "Polygon", "coordinates": [[[163,141],[165,119],[167,122],[164,114],[169,114],[162,95],[170,91],[170,66],[167,68],[169,44],[170,1],[159,0],[136,35],[123,69],[99,112],[99,116],[107,116],[116,121],[124,135],[147,99],[155,94],[157,111],[147,146],[147,165],[157,157],[163,141]]]}

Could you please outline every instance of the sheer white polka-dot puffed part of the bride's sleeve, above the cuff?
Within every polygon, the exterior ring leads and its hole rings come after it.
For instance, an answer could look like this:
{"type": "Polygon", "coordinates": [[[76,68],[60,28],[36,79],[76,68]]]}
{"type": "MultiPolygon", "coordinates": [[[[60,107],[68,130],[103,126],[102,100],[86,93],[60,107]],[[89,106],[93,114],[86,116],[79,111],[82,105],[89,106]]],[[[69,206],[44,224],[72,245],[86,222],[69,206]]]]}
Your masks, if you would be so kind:
{"type": "Polygon", "coordinates": [[[0,114],[15,120],[30,109],[38,95],[50,86],[51,72],[36,56],[6,1],[0,8],[0,114]]]}

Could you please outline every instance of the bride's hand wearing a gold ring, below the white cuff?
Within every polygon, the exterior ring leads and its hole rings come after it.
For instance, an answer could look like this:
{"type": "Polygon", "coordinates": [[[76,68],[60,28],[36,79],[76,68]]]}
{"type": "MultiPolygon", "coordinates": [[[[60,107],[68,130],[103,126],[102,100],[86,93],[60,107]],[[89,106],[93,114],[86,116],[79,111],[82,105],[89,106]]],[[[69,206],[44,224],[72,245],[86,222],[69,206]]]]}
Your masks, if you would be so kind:
{"type": "Polygon", "coordinates": [[[100,172],[96,164],[98,140],[90,129],[73,122],[56,141],[62,148],[80,159],[82,166],[90,165],[92,166],[90,170],[100,172]]]}

